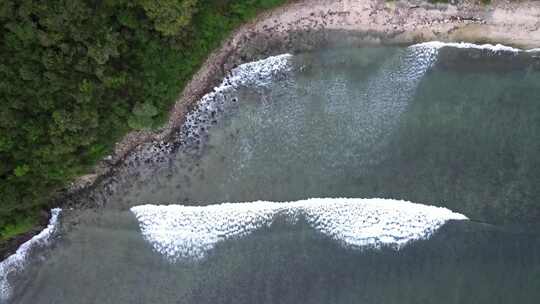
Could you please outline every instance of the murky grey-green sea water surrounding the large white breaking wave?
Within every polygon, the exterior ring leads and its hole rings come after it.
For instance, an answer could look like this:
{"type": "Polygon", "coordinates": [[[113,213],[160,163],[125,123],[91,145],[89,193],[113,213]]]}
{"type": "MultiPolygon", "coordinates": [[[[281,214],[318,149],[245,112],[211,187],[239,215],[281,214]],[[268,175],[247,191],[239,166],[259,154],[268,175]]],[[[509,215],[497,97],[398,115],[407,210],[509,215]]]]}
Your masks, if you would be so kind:
{"type": "MultiPolygon", "coordinates": [[[[148,147],[97,189],[101,207],[64,210],[3,301],[538,303],[539,151],[538,53],[428,43],[250,63],[174,144],[148,147]],[[171,260],[130,210],[313,197],[408,200],[470,220],[397,250],[344,246],[309,217],[277,216],[202,259],[171,260]]],[[[334,214],[325,223],[343,224],[334,214]]]]}

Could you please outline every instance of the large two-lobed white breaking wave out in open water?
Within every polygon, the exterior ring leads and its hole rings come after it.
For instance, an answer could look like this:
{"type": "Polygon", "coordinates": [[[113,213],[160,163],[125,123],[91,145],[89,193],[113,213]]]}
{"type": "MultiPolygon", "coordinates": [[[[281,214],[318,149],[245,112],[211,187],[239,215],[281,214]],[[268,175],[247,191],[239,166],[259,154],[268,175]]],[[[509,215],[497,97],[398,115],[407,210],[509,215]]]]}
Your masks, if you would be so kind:
{"type": "Polygon", "coordinates": [[[131,208],[141,233],[171,262],[198,260],[223,240],[269,226],[277,215],[300,216],[316,230],[354,248],[396,249],[430,237],[448,220],[466,220],[446,208],[388,199],[313,198],[295,202],[210,206],[141,205],[131,208]]]}

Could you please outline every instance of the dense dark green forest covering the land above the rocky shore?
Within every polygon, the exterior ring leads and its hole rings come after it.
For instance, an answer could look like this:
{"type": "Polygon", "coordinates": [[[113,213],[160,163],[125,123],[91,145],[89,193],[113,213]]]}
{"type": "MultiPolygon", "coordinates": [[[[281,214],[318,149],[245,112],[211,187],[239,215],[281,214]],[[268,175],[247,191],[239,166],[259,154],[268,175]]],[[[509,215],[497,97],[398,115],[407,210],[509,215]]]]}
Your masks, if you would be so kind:
{"type": "Polygon", "coordinates": [[[0,1],[0,240],[126,132],[164,123],[222,39],[283,2],[0,1]]]}

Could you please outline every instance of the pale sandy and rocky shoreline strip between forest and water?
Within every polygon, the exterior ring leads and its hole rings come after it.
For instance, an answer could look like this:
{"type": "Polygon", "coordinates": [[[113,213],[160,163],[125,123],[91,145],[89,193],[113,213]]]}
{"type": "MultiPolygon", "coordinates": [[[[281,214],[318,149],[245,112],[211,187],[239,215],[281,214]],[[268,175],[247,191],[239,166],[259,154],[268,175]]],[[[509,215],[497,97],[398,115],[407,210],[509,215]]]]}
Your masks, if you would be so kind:
{"type": "MultiPolygon", "coordinates": [[[[152,143],[167,143],[202,96],[241,63],[279,53],[298,53],[320,47],[407,45],[431,40],[502,43],[520,48],[540,47],[540,3],[494,0],[490,5],[462,1],[457,5],[423,1],[296,0],[262,13],[241,26],[214,50],[182,91],[167,124],[156,131],[127,134],[94,172],[79,177],[59,194],[56,205],[77,207],[94,188],[114,178],[131,155],[144,153],[152,143]]],[[[2,242],[0,259],[44,228],[2,242]]]]}

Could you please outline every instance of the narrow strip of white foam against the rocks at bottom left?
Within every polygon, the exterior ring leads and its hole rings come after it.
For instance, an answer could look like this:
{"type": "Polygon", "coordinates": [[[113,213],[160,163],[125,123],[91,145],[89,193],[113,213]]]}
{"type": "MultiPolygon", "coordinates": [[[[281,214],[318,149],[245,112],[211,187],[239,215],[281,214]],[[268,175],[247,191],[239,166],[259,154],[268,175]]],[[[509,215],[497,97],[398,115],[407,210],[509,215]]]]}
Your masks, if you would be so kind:
{"type": "Polygon", "coordinates": [[[30,251],[35,247],[45,246],[49,243],[51,235],[56,231],[61,211],[60,208],[52,209],[47,227],[38,235],[23,243],[14,254],[0,262],[0,300],[7,300],[11,296],[9,276],[23,269],[30,251]]]}

